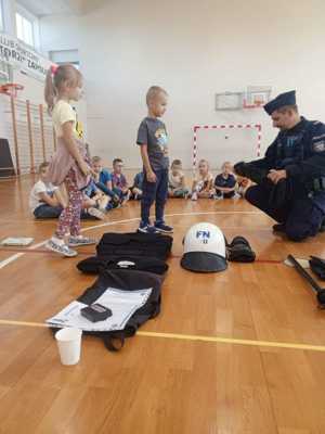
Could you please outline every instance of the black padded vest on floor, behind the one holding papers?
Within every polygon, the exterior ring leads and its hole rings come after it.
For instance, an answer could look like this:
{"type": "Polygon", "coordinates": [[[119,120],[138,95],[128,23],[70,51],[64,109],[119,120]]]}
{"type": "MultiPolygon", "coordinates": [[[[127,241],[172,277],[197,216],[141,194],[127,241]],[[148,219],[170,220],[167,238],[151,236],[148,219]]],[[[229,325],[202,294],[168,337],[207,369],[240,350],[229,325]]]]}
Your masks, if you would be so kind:
{"type": "Polygon", "coordinates": [[[171,246],[172,237],[161,233],[104,233],[98,256],[81,260],[77,268],[91,273],[99,273],[100,267],[161,273],[169,268],[165,259],[171,246]]]}

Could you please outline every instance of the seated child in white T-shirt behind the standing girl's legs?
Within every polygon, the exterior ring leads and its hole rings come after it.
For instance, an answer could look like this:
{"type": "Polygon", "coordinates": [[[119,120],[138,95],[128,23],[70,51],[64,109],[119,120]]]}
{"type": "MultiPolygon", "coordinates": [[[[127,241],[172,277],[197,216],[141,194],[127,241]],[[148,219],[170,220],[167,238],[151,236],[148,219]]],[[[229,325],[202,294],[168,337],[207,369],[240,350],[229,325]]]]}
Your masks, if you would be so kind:
{"type": "MultiPolygon", "coordinates": [[[[39,166],[39,181],[32,187],[29,194],[29,207],[36,218],[58,218],[66,207],[65,200],[60,193],[58,187],[54,187],[48,180],[50,163],[44,162],[39,166]]],[[[81,209],[82,219],[102,219],[102,213],[91,207],[81,209]]]]}

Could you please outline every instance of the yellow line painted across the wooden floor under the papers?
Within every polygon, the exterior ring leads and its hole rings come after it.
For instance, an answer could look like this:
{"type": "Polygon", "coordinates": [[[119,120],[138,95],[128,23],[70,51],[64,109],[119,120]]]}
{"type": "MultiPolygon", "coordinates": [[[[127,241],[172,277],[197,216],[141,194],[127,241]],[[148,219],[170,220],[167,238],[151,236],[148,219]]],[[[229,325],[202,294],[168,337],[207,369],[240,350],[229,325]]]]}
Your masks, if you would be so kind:
{"type": "MultiPolygon", "coordinates": [[[[0,320],[0,324],[43,327],[43,328],[50,327],[49,324],[44,324],[41,322],[11,321],[11,320],[5,320],[5,319],[0,320]]],[[[185,341],[219,342],[219,343],[223,343],[223,344],[269,346],[269,347],[276,347],[276,348],[292,348],[292,349],[308,349],[308,350],[325,352],[325,346],[321,346],[321,345],[288,344],[288,343],[283,343],[283,342],[247,341],[247,340],[237,340],[237,339],[232,339],[232,337],[194,336],[191,334],[157,333],[157,332],[141,332],[141,331],[138,331],[136,334],[139,336],[150,336],[150,337],[178,339],[178,340],[185,340],[185,341]]]]}

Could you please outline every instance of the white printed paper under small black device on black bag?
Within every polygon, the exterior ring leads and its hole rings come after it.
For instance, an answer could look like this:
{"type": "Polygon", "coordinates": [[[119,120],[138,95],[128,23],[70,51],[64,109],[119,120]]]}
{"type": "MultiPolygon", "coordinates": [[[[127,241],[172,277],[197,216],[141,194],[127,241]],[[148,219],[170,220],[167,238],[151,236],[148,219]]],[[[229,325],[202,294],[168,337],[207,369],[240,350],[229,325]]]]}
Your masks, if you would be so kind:
{"type": "Polygon", "coordinates": [[[95,303],[108,307],[113,315],[104,321],[91,322],[81,317],[80,309],[87,307],[83,303],[73,302],[47,323],[51,327],[76,327],[86,331],[122,330],[133,312],[143,305],[152,293],[152,288],[139,291],[121,291],[107,288],[95,303]]]}

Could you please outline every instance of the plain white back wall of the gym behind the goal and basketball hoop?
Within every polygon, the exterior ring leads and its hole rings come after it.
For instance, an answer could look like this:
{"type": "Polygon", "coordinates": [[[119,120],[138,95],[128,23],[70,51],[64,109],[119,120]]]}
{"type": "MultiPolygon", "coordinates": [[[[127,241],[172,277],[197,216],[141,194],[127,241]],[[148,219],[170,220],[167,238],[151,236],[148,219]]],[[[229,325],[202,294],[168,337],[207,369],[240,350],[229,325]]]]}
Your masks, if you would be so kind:
{"type": "MultiPolygon", "coordinates": [[[[263,110],[216,112],[216,92],[296,89],[300,113],[325,120],[324,16],[324,0],[93,0],[83,16],[49,15],[40,28],[43,52],[79,50],[89,141],[105,166],[121,156],[141,167],[136,130],[146,90],[159,85],[170,97],[170,156],[190,168],[195,125],[261,124],[262,151],[276,135],[263,110]]],[[[256,148],[250,136],[236,140],[233,162],[256,148]]],[[[217,156],[226,143],[217,140],[217,156]]]]}

